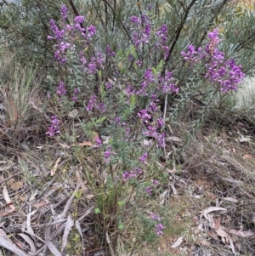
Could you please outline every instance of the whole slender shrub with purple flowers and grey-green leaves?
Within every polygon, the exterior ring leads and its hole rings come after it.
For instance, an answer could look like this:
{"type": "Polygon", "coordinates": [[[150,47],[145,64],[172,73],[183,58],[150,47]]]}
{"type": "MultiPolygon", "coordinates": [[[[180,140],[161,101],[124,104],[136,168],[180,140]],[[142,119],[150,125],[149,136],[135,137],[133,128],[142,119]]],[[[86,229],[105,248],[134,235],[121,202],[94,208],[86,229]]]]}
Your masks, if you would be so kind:
{"type": "MultiPolygon", "coordinates": [[[[57,99],[54,104],[62,112],[75,108],[83,114],[79,117],[81,129],[77,128],[76,134],[86,134],[90,141],[93,141],[90,134],[95,131],[99,134],[92,143],[97,154],[94,176],[86,174],[86,178],[94,194],[96,213],[106,219],[101,226],[104,230],[109,223],[124,218],[124,206],[130,203],[130,198],[140,202],[141,197],[150,200],[159,196],[164,181],[158,180],[156,159],[164,156],[166,122],[170,119],[166,115],[172,111],[162,108],[161,99],[166,99],[167,107],[168,96],[182,99],[184,93],[178,86],[178,74],[174,69],[169,70],[171,65],[164,65],[171,54],[167,25],[157,26],[150,12],[129,18],[131,43],[127,48],[108,43],[104,48],[97,45],[101,39],[97,38],[100,36],[96,26],[86,24],[82,15],[68,23],[65,6],[61,16],[58,25],[54,20],[49,21],[51,36],[48,39],[54,42],[54,59],[59,65],[60,77],[53,95],[57,99]],[[99,167],[103,178],[98,179],[104,181],[97,187],[94,180],[99,167]]],[[[197,77],[202,77],[216,92],[227,94],[229,90],[236,90],[245,76],[241,65],[228,60],[218,49],[217,29],[207,37],[205,46],[195,48],[190,44],[180,53],[181,58],[190,74],[195,71],[197,77]]],[[[181,82],[188,83],[190,77],[185,79],[181,82]]],[[[67,118],[61,118],[64,119],[67,118]]],[[[58,117],[52,117],[47,135],[61,137],[62,125],[58,117]]],[[[83,161],[79,154],[76,157],[79,162],[83,161]]],[[[153,220],[150,227],[155,228],[156,235],[163,235],[165,227],[161,218],[151,213],[147,219],[153,220]]]]}

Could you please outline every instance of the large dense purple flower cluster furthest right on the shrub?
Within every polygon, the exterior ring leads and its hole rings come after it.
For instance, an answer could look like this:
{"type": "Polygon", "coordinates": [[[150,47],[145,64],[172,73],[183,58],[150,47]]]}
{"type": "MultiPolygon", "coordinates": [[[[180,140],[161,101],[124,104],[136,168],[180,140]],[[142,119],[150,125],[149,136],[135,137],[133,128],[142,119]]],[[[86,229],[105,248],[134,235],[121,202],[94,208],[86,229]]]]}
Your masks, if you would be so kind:
{"type": "Polygon", "coordinates": [[[227,93],[229,90],[236,90],[238,83],[241,82],[245,74],[241,72],[241,65],[235,65],[235,60],[224,61],[224,53],[219,51],[217,46],[220,43],[218,30],[214,29],[208,33],[209,42],[204,50],[195,50],[193,45],[188,47],[187,53],[181,52],[184,60],[191,65],[206,60],[206,78],[213,82],[220,90],[227,93]]]}

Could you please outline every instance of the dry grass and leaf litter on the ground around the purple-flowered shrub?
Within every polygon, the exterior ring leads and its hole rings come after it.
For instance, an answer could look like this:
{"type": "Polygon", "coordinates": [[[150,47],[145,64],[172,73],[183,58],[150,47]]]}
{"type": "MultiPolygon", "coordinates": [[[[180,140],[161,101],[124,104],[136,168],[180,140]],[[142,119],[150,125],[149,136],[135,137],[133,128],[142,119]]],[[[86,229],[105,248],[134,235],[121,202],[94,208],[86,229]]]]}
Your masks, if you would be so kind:
{"type": "MultiPolygon", "coordinates": [[[[61,248],[65,240],[65,221],[71,217],[80,229],[71,227],[64,254],[96,256],[102,252],[104,255],[103,234],[96,228],[94,195],[88,187],[84,169],[75,159],[74,151],[55,140],[45,140],[44,128],[38,127],[38,122],[43,123],[45,112],[40,113],[29,105],[31,100],[40,102],[37,98],[38,87],[34,83],[38,82],[35,78],[37,72],[27,71],[30,71],[29,67],[26,70],[18,65],[9,71],[11,78],[2,77],[5,79],[2,92],[8,87],[12,101],[2,94],[1,103],[6,119],[14,120],[14,124],[5,133],[13,143],[6,144],[6,139],[0,139],[0,145],[9,149],[8,153],[2,153],[0,161],[0,190],[3,191],[0,194],[0,227],[20,250],[29,252],[32,247],[27,237],[18,235],[23,232],[26,223],[25,234],[33,239],[41,255],[46,256],[52,255],[48,250],[47,237],[51,237],[55,247],[61,248]],[[33,139],[23,135],[23,140],[14,137],[14,134],[21,134],[22,129],[26,129],[27,134],[31,130],[38,132],[32,134],[33,139]],[[21,145],[24,141],[23,146],[28,148],[14,151],[14,145],[21,145]],[[62,219],[58,219],[59,215],[62,219]],[[58,220],[61,221],[50,225],[58,220]]],[[[236,94],[241,97],[238,98],[240,105],[236,105],[239,110],[243,110],[246,102],[252,102],[247,98],[242,101],[242,97],[251,97],[252,94],[246,92],[253,90],[253,82],[248,83],[248,88],[236,94]]],[[[249,99],[252,100],[252,97],[249,99]]],[[[252,104],[248,106],[252,111],[252,104]]],[[[163,201],[158,211],[166,227],[164,235],[154,242],[142,241],[133,255],[227,256],[233,255],[233,250],[235,255],[254,254],[255,121],[252,117],[247,120],[234,116],[225,120],[219,118],[221,122],[218,123],[212,117],[208,119],[191,139],[189,147],[184,148],[178,158],[182,162],[177,161],[175,168],[167,170],[168,184],[161,193],[163,195],[166,191],[164,196],[143,202],[150,211],[163,201]],[[214,210],[205,218],[201,213],[212,207],[225,208],[226,211],[214,210]],[[219,225],[225,233],[219,230],[219,225]],[[183,242],[173,248],[180,237],[183,242]]],[[[174,135],[182,138],[188,128],[183,134],[178,128],[176,130],[178,132],[174,135]]],[[[181,143],[175,145],[176,148],[181,146],[181,143]]],[[[86,156],[87,151],[81,149],[80,153],[86,156]]],[[[87,161],[86,157],[84,159],[87,161]]],[[[139,229],[139,225],[135,229],[139,229]]],[[[127,237],[130,247],[135,242],[133,234],[132,239],[127,237]]],[[[124,241],[118,242],[119,255],[130,254],[126,246],[124,241]]],[[[2,253],[11,255],[8,250],[2,250],[2,253]]]]}

